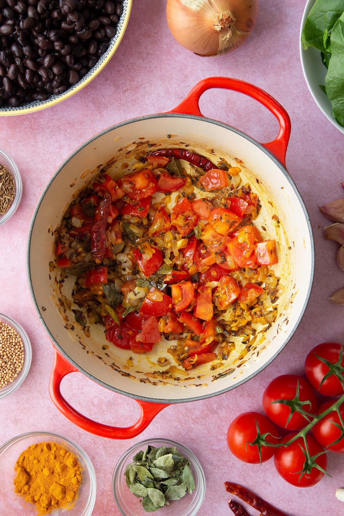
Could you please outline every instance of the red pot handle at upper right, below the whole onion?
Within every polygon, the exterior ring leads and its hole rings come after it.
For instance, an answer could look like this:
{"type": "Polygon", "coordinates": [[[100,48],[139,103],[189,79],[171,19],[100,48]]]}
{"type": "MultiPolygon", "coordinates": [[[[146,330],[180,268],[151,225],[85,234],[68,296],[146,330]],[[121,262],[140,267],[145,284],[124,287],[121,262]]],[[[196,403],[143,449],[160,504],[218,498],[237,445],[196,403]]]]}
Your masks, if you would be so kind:
{"type": "Polygon", "coordinates": [[[208,77],[196,84],[186,98],[169,112],[203,117],[200,111],[199,100],[202,93],[210,88],[224,88],[227,90],[239,91],[240,93],[251,96],[272,112],[280,123],[280,132],[275,140],[263,143],[263,145],[266,149],[272,152],[272,154],[276,156],[276,158],[285,167],[285,157],[291,126],[289,115],[284,107],[269,95],[269,93],[261,90],[257,86],[253,86],[253,84],[245,83],[243,80],[232,79],[230,77],[208,77]]]}

